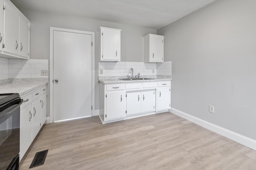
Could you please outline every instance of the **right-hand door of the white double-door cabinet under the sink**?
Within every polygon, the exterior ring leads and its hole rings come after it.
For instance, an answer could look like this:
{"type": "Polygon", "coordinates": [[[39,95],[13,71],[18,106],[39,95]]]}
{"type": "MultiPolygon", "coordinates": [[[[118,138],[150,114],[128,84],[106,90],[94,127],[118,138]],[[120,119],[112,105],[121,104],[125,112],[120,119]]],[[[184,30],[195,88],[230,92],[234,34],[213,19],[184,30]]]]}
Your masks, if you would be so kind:
{"type": "Polygon", "coordinates": [[[155,111],[155,98],[155,90],[141,92],[141,112],[155,111]]]}

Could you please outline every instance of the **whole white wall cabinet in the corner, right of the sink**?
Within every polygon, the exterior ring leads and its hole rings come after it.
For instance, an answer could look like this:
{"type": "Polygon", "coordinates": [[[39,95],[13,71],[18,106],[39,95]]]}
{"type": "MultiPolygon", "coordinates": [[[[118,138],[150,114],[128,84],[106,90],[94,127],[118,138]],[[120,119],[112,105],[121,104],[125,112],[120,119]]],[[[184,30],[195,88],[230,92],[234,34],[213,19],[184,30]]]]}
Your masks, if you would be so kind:
{"type": "Polygon", "coordinates": [[[148,34],[144,37],[144,62],[164,62],[164,36],[148,34]]]}

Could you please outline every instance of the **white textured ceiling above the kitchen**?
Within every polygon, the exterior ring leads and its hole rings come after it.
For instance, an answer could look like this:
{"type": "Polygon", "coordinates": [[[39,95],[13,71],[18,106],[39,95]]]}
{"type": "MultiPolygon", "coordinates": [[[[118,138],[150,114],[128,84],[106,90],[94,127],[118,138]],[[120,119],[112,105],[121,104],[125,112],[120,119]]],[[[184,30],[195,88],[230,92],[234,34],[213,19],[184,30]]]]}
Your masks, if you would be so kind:
{"type": "Polygon", "coordinates": [[[17,7],[159,29],[214,0],[11,0],[17,7]]]}

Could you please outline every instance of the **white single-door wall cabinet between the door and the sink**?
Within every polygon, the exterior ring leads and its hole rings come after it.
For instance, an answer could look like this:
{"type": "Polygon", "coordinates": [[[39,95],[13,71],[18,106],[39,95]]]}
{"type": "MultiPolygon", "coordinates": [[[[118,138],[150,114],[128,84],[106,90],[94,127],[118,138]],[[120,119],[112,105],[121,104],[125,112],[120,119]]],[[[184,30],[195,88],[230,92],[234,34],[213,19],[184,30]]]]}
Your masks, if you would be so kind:
{"type": "Polygon", "coordinates": [[[100,27],[100,61],[120,61],[121,29],[100,27]]]}

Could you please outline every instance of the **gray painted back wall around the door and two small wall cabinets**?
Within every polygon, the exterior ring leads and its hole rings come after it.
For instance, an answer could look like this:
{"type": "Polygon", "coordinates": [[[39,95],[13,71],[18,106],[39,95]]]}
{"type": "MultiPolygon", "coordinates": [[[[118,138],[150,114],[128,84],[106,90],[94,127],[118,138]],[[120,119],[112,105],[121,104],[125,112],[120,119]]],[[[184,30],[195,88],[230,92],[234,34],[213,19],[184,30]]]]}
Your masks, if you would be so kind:
{"type": "MultiPolygon", "coordinates": [[[[31,21],[30,24],[30,58],[49,59],[50,55],[50,27],[76,29],[95,32],[95,109],[99,109],[98,86],[98,28],[112,27],[121,31],[121,61],[143,61],[143,37],[148,33],[156,33],[154,29],[111,23],[106,21],[91,20],[76,16],[66,16],[38,10],[19,8],[19,10],[31,21]]],[[[51,82],[51,81],[49,81],[51,82]]],[[[48,87],[49,89],[49,87],[48,87]]],[[[49,100],[47,102],[49,105],[49,100]]],[[[47,111],[49,113],[49,111],[47,111]]]]}

